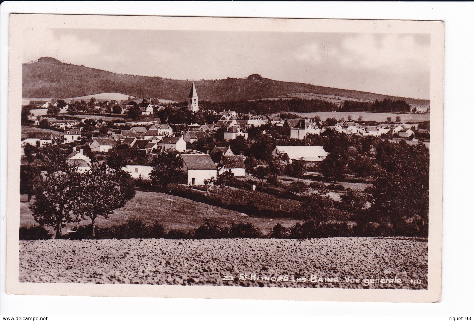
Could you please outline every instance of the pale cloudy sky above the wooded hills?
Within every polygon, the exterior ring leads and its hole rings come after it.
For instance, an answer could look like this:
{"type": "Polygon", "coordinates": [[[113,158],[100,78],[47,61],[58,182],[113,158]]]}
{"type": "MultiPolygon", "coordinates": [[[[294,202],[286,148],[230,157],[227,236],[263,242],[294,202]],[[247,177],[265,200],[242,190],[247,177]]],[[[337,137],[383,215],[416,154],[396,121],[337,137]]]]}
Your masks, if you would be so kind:
{"type": "Polygon", "coordinates": [[[274,80],[429,99],[429,34],[28,28],[23,62],[49,56],[180,80],[274,80]]]}

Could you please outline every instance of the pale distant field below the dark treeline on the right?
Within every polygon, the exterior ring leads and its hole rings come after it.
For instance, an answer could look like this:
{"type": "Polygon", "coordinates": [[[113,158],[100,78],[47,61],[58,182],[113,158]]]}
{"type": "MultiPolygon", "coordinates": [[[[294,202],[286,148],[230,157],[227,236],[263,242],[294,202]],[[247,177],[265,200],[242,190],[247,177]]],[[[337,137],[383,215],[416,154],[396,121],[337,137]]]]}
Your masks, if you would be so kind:
{"type": "Polygon", "coordinates": [[[354,121],[357,121],[357,118],[359,118],[359,116],[362,116],[362,121],[373,120],[376,122],[385,122],[387,121],[387,117],[392,117],[392,121],[395,121],[396,116],[400,116],[402,123],[426,121],[426,120],[429,120],[429,115],[430,115],[430,114],[415,114],[415,113],[409,113],[409,114],[367,113],[367,112],[360,112],[360,111],[320,111],[317,113],[292,113],[292,114],[296,114],[301,117],[309,117],[309,118],[312,118],[314,116],[319,116],[321,120],[326,120],[327,118],[332,118],[332,117],[336,118],[337,120],[344,117],[344,119],[347,120],[347,116],[350,115],[352,116],[352,119],[354,121]]]}

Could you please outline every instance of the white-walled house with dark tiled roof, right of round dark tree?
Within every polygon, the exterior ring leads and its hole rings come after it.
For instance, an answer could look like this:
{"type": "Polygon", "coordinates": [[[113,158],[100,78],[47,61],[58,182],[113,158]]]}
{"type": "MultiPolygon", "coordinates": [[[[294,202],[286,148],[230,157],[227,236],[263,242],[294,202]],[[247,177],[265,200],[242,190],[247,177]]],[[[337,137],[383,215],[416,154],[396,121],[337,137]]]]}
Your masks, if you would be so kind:
{"type": "Polygon", "coordinates": [[[183,170],[188,174],[188,185],[204,185],[205,179],[217,178],[217,167],[209,155],[182,154],[183,170]]]}

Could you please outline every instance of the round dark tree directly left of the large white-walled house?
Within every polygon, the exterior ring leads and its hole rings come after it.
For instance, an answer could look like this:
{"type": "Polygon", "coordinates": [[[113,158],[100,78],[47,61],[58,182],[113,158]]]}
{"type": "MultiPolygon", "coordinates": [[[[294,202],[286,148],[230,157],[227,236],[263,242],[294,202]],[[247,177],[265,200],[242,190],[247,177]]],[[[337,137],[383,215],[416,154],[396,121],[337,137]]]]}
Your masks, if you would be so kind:
{"type": "Polygon", "coordinates": [[[150,179],[153,186],[164,189],[168,184],[179,180],[183,176],[182,158],[175,150],[166,150],[156,158],[150,172],[150,179]]]}

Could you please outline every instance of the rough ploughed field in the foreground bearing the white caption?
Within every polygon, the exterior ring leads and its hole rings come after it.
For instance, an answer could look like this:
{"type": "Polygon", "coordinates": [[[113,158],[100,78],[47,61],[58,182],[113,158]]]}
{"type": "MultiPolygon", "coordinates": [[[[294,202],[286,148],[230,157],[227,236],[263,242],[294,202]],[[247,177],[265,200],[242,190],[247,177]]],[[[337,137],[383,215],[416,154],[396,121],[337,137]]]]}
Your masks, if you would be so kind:
{"type": "Polygon", "coordinates": [[[20,241],[19,281],[426,289],[427,261],[411,238],[38,240],[20,241]]]}

